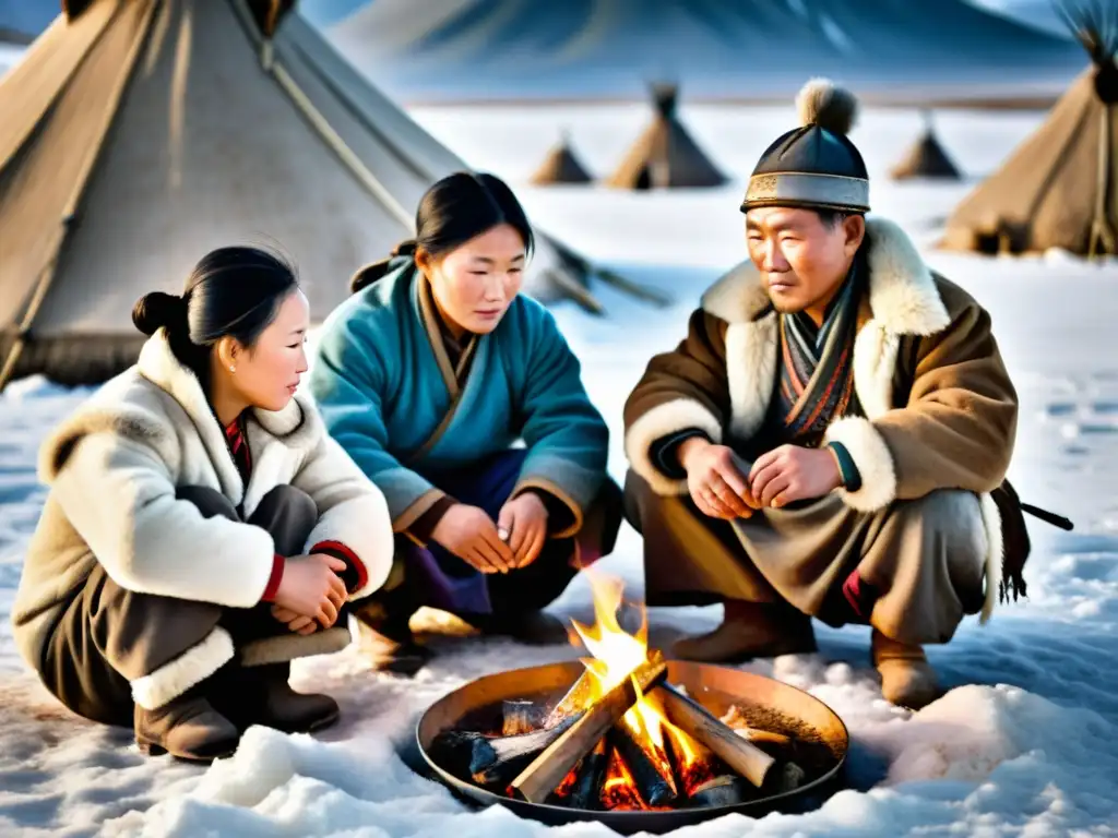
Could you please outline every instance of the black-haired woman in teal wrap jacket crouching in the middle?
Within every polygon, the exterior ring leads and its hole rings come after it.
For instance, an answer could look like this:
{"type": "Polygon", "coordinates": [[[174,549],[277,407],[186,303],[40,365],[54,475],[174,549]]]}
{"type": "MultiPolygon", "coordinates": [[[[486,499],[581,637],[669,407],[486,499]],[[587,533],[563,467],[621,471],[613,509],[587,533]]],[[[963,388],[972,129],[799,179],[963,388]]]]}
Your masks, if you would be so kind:
{"type": "Polygon", "coordinates": [[[416,230],[354,276],[310,377],[330,434],[388,501],[404,581],[359,617],[398,668],[426,658],[408,629],[421,606],[485,632],[563,638],[540,609],[613,549],[620,523],[579,362],[520,294],[532,231],[512,191],[452,174],[424,196],[416,230]]]}

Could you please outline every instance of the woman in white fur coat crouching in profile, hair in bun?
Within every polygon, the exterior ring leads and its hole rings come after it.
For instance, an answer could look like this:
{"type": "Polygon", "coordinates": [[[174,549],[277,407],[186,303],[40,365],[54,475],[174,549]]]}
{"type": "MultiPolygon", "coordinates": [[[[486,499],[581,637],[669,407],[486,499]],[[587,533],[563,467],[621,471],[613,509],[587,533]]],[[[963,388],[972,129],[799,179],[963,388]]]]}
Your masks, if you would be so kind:
{"type": "Polygon", "coordinates": [[[215,250],[181,297],[148,294],[139,362],[44,444],[50,487],[15,635],[82,716],[208,761],[252,724],[332,723],[290,661],[350,640],[347,602],[392,558],[383,495],[296,394],[306,297],[293,269],[215,250]]]}

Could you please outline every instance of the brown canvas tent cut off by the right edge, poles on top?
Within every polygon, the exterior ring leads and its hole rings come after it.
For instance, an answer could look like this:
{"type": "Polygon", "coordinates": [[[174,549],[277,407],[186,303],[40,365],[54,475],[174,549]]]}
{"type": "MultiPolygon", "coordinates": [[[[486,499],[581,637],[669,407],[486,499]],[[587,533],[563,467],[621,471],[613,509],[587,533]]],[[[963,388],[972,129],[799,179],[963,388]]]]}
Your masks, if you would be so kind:
{"type": "Polygon", "coordinates": [[[1091,57],[1044,123],[948,218],[941,247],[1118,253],[1118,11],[1064,4],[1091,57]]]}

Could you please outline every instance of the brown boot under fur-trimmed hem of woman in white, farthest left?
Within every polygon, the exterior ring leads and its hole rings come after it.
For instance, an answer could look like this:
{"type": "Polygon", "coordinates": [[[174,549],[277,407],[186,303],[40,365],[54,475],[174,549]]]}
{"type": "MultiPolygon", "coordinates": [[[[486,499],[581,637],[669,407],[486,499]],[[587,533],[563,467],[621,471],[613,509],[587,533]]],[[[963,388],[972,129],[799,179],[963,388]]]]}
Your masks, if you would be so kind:
{"type": "Polygon", "coordinates": [[[180,760],[212,762],[237,750],[240,732],[214,708],[200,687],[157,710],[135,706],[133,726],[141,751],[152,756],[169,753],[180,760]]]}

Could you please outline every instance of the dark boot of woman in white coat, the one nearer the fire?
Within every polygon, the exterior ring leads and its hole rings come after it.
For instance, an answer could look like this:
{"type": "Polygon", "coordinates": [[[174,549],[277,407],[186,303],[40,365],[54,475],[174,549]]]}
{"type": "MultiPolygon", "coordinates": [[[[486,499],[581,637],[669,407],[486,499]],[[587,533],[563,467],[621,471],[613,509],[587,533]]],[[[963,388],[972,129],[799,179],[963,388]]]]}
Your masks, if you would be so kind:
{"type": "Polygon", "coordinates": [[[338,702],[329,695],[291,688],[291,664],[239,668],[229,695],[215,704],[241,730],[254,724],[284,733],[311,733],[338,721],[338,702]]]}

